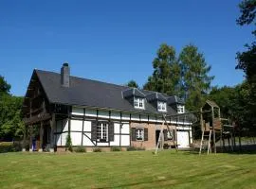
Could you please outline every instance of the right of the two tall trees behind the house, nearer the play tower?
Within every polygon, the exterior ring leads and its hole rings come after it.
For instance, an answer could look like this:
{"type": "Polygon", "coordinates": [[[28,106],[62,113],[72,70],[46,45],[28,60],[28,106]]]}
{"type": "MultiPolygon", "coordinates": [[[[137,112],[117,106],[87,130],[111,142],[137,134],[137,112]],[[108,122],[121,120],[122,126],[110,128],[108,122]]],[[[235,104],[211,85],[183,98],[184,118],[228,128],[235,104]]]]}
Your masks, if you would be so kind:
{"type": "Polygon", "coordinates": [[[210,66],[204,55],[192,44],[185,46],[180,55],[182,91],[189,110],[198,110],[209,93],[210,82],[214,77],[209,76],[210,66]]]}

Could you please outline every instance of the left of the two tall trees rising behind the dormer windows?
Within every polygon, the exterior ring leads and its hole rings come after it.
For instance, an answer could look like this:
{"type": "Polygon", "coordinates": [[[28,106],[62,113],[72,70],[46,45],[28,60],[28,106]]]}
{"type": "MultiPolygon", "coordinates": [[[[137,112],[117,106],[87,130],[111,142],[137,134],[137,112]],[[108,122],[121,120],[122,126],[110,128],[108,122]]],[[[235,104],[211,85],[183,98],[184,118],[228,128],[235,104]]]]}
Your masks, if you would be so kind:
{"type": "Polygon", "coordinates": [[[156,58],[153,60],[153,67],[153,75],[148,77],[143,88],[170,95],[178,94],[180,66],[175,58],[174,47],[166,43],[161,44],[156,58]]]}

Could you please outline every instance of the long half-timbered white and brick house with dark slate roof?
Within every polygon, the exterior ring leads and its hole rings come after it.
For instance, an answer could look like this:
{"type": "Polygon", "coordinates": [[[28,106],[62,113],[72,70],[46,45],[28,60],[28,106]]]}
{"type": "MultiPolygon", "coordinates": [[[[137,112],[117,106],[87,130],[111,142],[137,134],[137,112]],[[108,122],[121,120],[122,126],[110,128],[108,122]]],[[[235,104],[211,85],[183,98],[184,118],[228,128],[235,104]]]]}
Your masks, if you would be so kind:
{"type": "MultiPolygon", "coordinates": [[[[87,151],[96,146],[103,150],[111,146],[154,149],[163,114],[184,112],[184,101],[176,96],[72,77],[64,63],[60,74],[33,71],[23,107],[24,140],[30,151],[64,150],[68,133],[73,146],[84,146],[87,151]]],[[[188,147],[191,120],[167,116],[167,122],[178,146],[188,147]]],[[[165,126],[165,145],[174,146],[171,137],[165,126]]]]}

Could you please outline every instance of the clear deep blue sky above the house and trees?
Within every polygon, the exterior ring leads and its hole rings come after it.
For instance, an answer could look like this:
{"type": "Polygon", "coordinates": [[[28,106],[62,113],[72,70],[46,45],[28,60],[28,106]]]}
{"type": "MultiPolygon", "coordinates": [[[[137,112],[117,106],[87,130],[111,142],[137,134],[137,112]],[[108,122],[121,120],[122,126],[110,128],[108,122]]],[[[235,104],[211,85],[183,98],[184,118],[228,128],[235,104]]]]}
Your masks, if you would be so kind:
{"type": "Polygon", "coordinates": [[[213,85],[243,80],[236,52],[252,41],[249,26],[237,26],[232,1],[1,1],[0,75],[11,93],[24,95],[34,68],[116,84],[143,85],[153,72],[161,43],[179,53],[193,43],[212,66],[213,85]]]}

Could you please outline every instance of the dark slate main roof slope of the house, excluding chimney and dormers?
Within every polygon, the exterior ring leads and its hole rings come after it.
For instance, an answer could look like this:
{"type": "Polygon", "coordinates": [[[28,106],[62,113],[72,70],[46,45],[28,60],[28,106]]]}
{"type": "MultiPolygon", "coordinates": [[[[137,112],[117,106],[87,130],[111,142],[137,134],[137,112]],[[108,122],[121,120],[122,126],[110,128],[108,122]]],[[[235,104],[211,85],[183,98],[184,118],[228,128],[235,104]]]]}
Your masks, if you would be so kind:
{"type": "MultiPolygon", "coordinates": [[[[135,109],[133,104],[122,96],[122,92],[127,90],[133,91],[134,88],[72,76],[70,77],[70,86],[64,87],[61,85],[60,74],[42,70],[35,70],[35,73],[39,77],[50,103],[102,108],[122,112],[162,113],[157,112],[155,107],[148,102],[145,103],[145,110],[135,109]]],[[[140,95],[153,93],[146,90],[141,90],[141,92],[140,90],[134,90],[134,92],[140,95]]],[[[168,97],[167,94],[160,95],[168,97]]],[[[167,112],[168,114],[176,113],[170,106],[167,106],[167,112]]]]}

